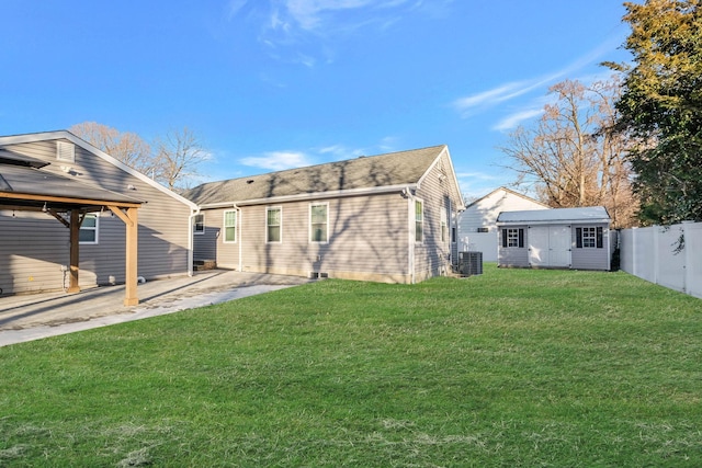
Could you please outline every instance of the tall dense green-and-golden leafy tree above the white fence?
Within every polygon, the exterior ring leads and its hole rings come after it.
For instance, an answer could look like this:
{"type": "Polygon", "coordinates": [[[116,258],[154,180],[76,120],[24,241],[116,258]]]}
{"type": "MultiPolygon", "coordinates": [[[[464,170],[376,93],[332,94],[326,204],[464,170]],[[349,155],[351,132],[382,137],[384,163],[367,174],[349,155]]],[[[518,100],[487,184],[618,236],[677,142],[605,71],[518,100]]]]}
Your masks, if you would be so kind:
{"type": "Polygon", "coordinates": [[[699,0],[624,3],[631,65],[616,103],[637,141],[630,160],[645,224],[702,220],[702,12],[699,0]]]}

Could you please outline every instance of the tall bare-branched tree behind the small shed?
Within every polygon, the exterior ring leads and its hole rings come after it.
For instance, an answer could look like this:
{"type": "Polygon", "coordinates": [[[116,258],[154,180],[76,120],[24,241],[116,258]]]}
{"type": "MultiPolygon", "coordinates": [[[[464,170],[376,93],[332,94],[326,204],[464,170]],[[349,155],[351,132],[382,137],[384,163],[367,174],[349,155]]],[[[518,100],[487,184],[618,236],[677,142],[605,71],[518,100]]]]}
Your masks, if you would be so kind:
{"type": "Polygon", "coordinates": [[[614,227],[635,221],[626,141],[609,130],[616,119],[615,79],[586,87],[579,81],[554,84],[555,102],[533,127],[519,127],[501,150],[511,159],[520,184],[533,184],[552,207],[604,206],[614,227]]]}

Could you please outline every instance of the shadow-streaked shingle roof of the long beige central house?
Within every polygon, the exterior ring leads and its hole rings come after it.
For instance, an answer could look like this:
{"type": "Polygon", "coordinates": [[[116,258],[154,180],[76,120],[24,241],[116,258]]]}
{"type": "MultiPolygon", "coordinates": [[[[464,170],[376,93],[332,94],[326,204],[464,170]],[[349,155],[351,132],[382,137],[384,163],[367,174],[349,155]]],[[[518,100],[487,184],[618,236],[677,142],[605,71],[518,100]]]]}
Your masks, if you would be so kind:
{"type": "Polygon", "coordinates": [[[210,182],[191,189],[183,196],[199,205],[214,205],[325,192],[415,185],[445,148],[445,145],[432,146],[210,182]]]}

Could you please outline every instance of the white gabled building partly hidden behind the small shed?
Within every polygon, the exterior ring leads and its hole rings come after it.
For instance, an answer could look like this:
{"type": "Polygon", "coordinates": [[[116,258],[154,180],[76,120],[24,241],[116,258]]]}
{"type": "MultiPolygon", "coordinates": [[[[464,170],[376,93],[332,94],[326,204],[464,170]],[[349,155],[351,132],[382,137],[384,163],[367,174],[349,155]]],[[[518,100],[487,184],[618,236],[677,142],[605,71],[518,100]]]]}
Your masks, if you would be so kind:
{"type": "Polygon", "coordinates": [[[501,212],[550,209],[506,187],[468,204],[458,215],[458,250],[483,252],[484,262],[497,262],[497,217],[501,212]]]}

